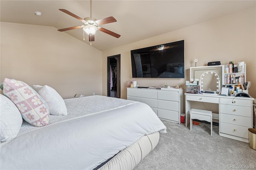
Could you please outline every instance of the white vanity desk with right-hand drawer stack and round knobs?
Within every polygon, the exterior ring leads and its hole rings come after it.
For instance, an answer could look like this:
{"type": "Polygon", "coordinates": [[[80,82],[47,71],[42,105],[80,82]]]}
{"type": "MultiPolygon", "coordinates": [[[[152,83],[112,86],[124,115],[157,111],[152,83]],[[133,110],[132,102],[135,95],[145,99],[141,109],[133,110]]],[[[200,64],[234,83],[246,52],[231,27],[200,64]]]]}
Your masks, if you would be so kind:
{"type": "Polygon", "coordinates": [[[190,123],[190,109],[194,108],[190,101],[217,103],[219,114],[213,113],[218,119],[219,135],[248,143],[248,128],[252,128],[252,97],[230,97],[211,94],[185,93],[186,96],[186,127],[190,123]]]}

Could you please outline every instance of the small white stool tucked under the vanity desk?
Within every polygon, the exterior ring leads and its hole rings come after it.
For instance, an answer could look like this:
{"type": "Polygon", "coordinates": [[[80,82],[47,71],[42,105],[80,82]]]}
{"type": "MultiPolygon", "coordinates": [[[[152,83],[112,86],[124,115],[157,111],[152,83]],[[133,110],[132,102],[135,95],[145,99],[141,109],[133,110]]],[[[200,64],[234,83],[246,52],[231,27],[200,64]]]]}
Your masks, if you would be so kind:
{"type": "Polygon", "coordinates": [[[212,135],[212,111],[191,109],[190,110],[190,130],[192,129],[193,119],[210,122],[211,123],[211,135],[212,135]]]}

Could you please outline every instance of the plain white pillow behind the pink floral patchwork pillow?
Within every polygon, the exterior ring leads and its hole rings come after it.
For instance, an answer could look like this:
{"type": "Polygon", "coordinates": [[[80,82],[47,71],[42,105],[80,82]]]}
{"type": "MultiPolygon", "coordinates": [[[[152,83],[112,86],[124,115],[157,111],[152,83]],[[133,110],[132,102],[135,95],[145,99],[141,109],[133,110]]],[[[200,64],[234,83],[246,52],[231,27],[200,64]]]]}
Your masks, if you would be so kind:
{"type": "Polygon", "coordinates": [[[50,115],[68,115],[67,107],[59,93],[48,85],[33,85],[33,89],[46,101],[50,115]]]}

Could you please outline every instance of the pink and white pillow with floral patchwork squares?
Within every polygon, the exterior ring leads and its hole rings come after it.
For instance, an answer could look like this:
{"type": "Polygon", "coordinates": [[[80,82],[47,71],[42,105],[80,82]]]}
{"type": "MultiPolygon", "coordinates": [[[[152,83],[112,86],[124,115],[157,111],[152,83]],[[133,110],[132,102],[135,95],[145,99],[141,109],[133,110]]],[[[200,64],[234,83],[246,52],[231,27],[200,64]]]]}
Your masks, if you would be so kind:
{"type": "Polygon", "coordinates": [[[19,109],[22,118],[36,127],[49,123],[49,109],[44,99],[22,81],[4,79],[4,95],[19,109]]]}

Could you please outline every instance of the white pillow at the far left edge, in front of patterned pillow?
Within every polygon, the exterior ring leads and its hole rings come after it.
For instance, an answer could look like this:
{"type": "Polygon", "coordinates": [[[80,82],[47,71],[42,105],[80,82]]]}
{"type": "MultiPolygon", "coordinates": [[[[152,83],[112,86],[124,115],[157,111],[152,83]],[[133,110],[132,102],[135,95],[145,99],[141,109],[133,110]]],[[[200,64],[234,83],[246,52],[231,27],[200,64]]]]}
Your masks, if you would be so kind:
{"type": "Polygon", "coordinates": [[[0,125],[1,125],[1,142],[6,142],[16,138],[22,124],[22,117],[19,109],[14,103],[0,94],[0,125]]]}

